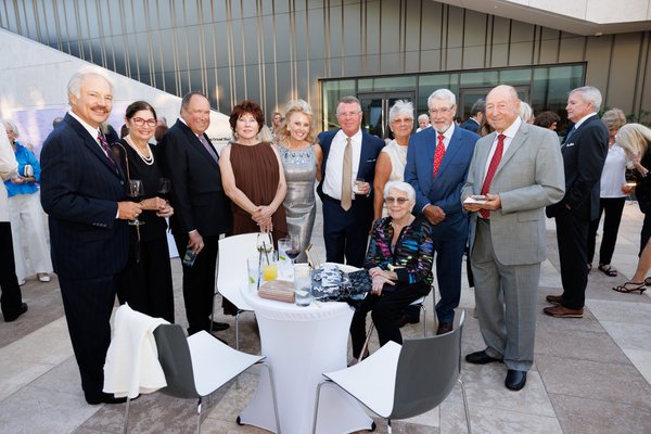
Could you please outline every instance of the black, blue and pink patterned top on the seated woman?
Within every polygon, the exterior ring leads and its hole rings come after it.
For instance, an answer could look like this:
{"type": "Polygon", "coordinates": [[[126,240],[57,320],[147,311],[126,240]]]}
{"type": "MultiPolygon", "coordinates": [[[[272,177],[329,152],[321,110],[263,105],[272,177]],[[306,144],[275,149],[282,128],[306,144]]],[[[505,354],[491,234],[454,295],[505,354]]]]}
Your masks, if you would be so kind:
{"type": "Polygon", "coordinates": [[[394,269],[401,285],[432,284],[433,240],[432,227],[423,217],[417,217],[411,225],[403,228],[396,245],[392,250],[394,228],[392,218],[378,219],[371,231],[371,242],[363,268],[380,267],[388,270],[388,265],[403,267],[394,269]]]}

